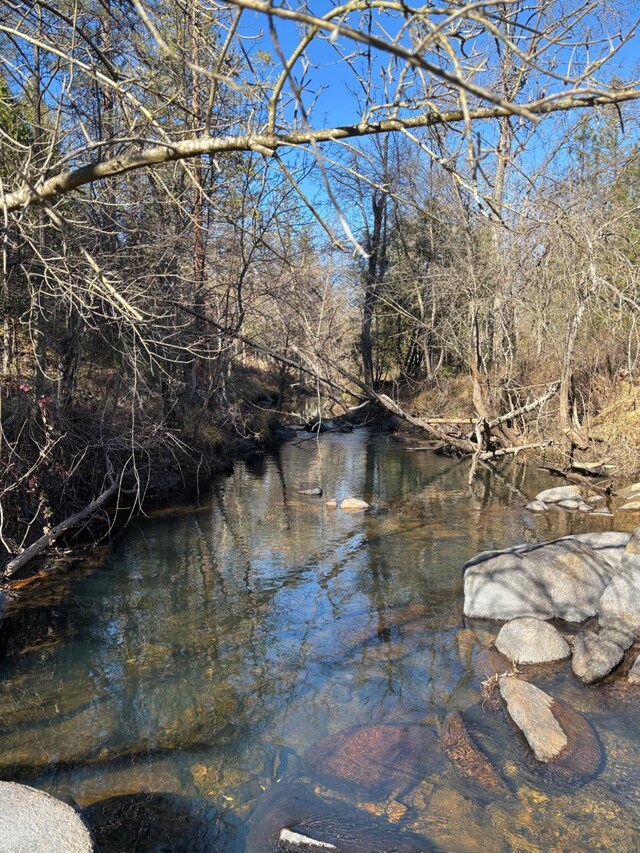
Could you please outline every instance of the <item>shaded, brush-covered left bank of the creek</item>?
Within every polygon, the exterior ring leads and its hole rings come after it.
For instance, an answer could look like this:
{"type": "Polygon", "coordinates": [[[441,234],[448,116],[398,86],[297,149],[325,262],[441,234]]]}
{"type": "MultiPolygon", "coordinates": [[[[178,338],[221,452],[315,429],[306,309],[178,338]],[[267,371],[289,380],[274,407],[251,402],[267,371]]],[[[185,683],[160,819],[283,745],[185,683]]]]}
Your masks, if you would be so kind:
{"type": "Polygon", "coordinates": [[[63,570],[140,513],[197,501],[234,461],[282,440],[277,390],[268,371],[244,370],[224,407],[191,400],[167,412],[85,389],[72,406],[4,382],[0,473],[5,586],[63,570]],[[21,563],[20,561],[23,560],[21,563]]]}

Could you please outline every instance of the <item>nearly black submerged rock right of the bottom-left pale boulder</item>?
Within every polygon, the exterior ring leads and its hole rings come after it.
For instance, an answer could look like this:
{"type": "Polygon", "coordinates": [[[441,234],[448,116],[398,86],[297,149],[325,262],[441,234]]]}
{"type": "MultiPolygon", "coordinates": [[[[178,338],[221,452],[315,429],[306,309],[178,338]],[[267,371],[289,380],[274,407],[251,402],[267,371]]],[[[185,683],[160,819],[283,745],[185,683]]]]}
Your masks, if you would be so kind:
{"type": "Polygon", "coordinates": [[[82,814],[100,853],[211,853],[237,835],[210,802],[173,794],[111,797],[82,814]]]}

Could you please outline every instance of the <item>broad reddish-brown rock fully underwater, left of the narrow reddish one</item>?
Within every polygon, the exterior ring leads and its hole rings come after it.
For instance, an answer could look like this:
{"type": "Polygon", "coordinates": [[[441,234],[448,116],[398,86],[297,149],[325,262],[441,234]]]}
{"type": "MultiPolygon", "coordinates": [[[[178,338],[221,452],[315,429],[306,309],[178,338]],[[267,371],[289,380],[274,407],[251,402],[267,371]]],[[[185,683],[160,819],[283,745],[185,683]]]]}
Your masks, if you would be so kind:
{"type": "Polygon", "coordinates": [[[442,762],[432,729],[397,724],[353,726],[314,743],[305,758],[330,788],[374,801],[409,790],[442,762]]]}

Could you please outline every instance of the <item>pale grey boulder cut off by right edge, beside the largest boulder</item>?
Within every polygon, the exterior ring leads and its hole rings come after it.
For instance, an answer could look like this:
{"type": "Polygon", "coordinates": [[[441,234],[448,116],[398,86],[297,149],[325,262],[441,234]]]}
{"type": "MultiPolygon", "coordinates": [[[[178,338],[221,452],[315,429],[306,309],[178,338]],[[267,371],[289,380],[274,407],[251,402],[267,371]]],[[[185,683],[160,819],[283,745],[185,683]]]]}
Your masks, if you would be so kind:
{"type": "Polygon", "coordinates": [[[626,544],[620,569],[600,598],[600,625],[640,637],[640,527],[626,544]]]}

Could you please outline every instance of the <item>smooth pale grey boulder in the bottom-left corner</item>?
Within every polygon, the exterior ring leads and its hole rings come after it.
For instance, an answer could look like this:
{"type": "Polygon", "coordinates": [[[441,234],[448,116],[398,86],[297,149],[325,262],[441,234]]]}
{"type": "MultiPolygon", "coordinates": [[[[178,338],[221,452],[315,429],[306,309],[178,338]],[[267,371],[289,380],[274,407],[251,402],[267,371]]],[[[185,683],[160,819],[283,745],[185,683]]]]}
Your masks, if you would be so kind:
{"type": "Polygon", "coordinates": [[[55,797],[0,782],[2,853],[90,853],[93,842],[79,815],[55,797]]]}

